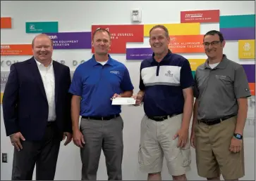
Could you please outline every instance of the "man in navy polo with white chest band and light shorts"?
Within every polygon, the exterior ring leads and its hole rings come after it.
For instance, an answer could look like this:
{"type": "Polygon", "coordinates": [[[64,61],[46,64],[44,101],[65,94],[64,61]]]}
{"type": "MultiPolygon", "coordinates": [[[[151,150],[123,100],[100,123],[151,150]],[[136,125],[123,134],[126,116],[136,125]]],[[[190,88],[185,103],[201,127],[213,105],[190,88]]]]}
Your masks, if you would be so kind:
{"type": "Polygon", "coordinates": [[[140,65],[140,91],[144,102],[140,127],[140,170],[148,180],[161,180],[163,158],[173,180],[186,180],[190,170],[188,128],[193,112],[193,75],[187,59],[171,53],[169,32],[157,25],[150,30],[151,58],[140,65]]]}

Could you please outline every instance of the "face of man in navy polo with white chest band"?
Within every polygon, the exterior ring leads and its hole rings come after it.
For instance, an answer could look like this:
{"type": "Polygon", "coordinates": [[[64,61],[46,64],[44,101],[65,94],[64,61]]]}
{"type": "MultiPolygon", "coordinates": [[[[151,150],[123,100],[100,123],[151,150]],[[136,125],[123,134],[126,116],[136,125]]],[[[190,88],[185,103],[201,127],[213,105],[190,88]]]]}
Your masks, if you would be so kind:
{"type": "Polygon", "coordinates": [[[152,29],[152,32],[150,32],[150,46],[155,54],[161,55],[168,52],[169,43],[170,38],[164,29],[160,27],[152,29]]]}

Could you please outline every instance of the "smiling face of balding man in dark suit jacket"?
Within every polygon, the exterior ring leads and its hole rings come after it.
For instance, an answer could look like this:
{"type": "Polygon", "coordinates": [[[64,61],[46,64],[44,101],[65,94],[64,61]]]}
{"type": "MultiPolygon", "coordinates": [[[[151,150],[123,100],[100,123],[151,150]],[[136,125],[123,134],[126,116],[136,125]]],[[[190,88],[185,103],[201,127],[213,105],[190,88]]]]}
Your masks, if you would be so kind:
{"type": "Polygon", "coordinates": [[[35,37],[32,52],[39,62],[51,60],[53,47],[51,39],[47,35],[39,35],[35,37]]]}

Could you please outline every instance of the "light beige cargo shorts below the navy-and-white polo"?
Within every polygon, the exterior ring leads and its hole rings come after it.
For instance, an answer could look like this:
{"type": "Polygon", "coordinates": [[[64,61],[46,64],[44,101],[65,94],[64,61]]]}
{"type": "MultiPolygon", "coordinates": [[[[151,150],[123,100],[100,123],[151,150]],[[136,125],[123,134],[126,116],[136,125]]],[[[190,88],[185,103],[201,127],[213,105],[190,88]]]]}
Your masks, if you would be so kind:
{"type": "Polygon", "coordinates": [[[188,141],[185,147],[180,149],[177,147],[178,138],[173,140],[173,136],[181,128],[182,116],[183,114],[179,114],[164,121],[143,117],[138,152],[142,172],[161,172],[164,157],[170,175],[183,175],[190,170],[190,142],[188,141]]]}

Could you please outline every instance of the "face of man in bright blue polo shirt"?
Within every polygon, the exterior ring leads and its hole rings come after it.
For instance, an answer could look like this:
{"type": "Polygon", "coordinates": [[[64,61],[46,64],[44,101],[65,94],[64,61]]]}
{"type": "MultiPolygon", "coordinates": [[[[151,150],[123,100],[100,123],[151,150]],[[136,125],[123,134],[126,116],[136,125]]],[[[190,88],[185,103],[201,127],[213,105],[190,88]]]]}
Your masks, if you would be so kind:
{"type": "Polygon", "coordinates": [[[95,54],[106,55],[111,46],[109,34],[104,31],[96,32],[92,40],[92,46],[95,48],[95,54]]]}

